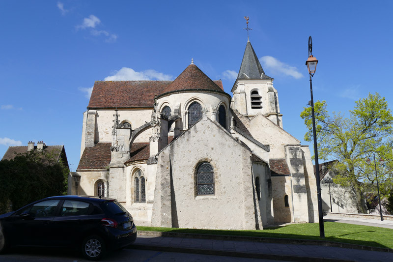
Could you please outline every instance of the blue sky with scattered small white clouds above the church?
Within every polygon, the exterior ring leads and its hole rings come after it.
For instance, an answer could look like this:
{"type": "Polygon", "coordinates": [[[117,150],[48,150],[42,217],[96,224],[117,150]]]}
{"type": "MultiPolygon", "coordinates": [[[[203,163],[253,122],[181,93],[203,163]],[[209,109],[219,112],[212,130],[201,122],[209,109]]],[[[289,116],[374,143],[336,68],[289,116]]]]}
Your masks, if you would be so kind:
{"type": "Polygon", "coordinates": [[[392,1],[359,0],[1,0],[0,156],[43,140],[64,145],[75,171],[96,80],[173,80],[194,58],[230,93],[247,42],[244,16],[275,79],[283,127],[307,145],[299,115],[310,99],[309,35],[319,60],[314,100],[347,113],[378,92],[392,108],[392,10],[392,1]]]}

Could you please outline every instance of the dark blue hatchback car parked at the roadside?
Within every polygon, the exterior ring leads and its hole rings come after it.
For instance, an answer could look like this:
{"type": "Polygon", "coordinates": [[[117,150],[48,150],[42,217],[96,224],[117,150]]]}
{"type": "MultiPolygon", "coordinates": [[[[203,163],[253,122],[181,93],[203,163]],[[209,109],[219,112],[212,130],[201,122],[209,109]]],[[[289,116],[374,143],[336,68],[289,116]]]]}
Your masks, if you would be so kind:
{"type": "Polygon", "coordinates": [[[0,253],[14,246],[67,247],[99,260],[136,237],[133,217],[110,198],[50,197],[0,215],[0,253]]]}

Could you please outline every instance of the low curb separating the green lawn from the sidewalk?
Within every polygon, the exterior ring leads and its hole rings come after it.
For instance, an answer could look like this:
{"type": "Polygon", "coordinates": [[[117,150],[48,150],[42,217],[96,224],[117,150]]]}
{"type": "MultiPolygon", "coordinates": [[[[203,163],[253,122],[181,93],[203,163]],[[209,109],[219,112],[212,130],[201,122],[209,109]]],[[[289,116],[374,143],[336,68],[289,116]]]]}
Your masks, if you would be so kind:
{"type": "Polygon", "coordinates": [[[279,244],[301,244],[301,245],[319,245],[328,247],[341,247],[350,249],[361,249],[367,251],[380,251],[393,253],[393,249],[382,247],[371,247],[349,243],[340,243],[326,240],[310,240],[310,239],[292,239],[292,238],[273,238],[273,237],[253,237],[253,236],[235,236],[235,235],[211,235],[211,234],[191,234],[191,233],[175,233],[175,232],[155,232],[155,231],[138,231],[138,235],[146,236],[170,236],[170,237],[187,237],[187,238],[205,238],[214,240],[228,241],[252,241],[263,243],[279,243],[279,244]]]}

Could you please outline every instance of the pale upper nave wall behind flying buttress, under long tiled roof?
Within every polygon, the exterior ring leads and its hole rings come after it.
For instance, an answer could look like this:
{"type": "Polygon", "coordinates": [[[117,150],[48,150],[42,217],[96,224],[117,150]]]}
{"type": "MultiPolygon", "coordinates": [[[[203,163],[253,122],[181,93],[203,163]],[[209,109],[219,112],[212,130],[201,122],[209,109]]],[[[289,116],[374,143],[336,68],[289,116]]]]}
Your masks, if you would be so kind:
{"type": "MultiPolygon", "coordinates": [[[[151,109],[122,109],[118,110],[119,122],[128,120],[132,129],[136,129],[143,125],[146,121],[151,120],[151,109]]],[[[97,110],[97,127],[96,138],[98,142],[112,142],[112,127],[114,120],[114,110],[98,109],[97,110]]],[[[151,130],[142,132],[136,139],[135,143],[148,142],[151,136],[151,130]]]]}

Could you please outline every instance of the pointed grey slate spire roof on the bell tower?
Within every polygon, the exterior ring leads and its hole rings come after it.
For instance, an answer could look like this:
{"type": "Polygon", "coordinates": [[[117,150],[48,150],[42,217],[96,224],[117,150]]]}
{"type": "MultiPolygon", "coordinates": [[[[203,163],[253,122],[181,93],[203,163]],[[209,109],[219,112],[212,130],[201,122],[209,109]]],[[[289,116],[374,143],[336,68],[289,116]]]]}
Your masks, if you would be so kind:
{"type": "Polygon", "coordinates": [[[237,79],[273,79],[263,71],[262,65],[255,54],[250,41],[247,41],[242,64],[237,79]]]}

